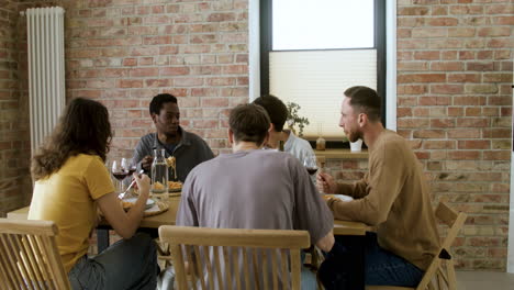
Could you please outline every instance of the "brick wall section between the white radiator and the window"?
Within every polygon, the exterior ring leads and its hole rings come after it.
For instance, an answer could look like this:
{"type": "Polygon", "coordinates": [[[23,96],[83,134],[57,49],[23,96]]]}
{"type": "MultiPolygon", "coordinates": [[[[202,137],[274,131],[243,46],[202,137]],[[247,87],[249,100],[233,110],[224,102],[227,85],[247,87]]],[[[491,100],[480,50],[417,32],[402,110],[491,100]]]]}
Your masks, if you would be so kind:
{"type": "MultiPolygon", "coordinates": [[[[153,131],[150,99],[178,97],[181,124],[226,148],[228,108],[248,99],[247,1],[72,1],[66,9],[68,97],[111,112],[113,154],[153,131]]],[[[126,150],[124,150],[126,154],[126,150]]]]}

